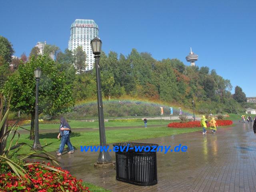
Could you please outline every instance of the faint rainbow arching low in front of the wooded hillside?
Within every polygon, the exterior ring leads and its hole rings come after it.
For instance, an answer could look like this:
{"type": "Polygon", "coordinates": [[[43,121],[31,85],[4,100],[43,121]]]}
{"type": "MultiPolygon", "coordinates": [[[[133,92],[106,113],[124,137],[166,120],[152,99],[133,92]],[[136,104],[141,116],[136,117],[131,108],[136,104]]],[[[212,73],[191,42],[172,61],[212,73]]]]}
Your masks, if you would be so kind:
{"type": "MultiPolygon", "coordinates": [[[[179,105],[179,104],[174,104],[174,103],[168,103],[168,102],[163,102],[163,101],[150,101],[146,98],[132,98],[132,97],[124,97],[124,98],[113,98],[113,99],[103,99],[103,106],[104,104],[110,104],[110,103],[120,103],[120,104],[143,104],[143,105],[148,105],[148,106],[155,106],[159,107],[159,112],[160,112],[160,106],[164,108],[164,114],[170,114],[170,107],[173,108],[173,112],[176,114],[179,112],[179,107],[182,109],[183,114],[191,115],[193,112],[191,110],[186,109],[184,106],[179,105]],[[168,112],[167,112],[168,111],[168,112]]],[[[96,99],[91,99],[91,100],[82,100],[78,101],[75,104],[75,107],[78,106],[86,106],[86,105],[91,105],[91,104],[97,104],[96,99]]]]}

